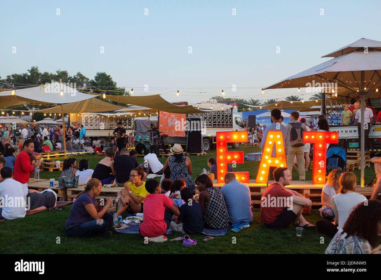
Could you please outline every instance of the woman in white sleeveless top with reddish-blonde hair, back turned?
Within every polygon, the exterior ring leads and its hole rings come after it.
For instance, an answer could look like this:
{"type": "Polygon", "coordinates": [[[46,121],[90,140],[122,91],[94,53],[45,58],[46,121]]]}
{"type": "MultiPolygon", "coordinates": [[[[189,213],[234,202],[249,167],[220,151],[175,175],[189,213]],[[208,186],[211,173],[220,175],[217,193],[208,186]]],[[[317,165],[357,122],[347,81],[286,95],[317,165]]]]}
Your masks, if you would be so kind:
{"type": "Polygon", "coordinates": [[[317,221],[317,231],[327,234],[330,237],[335,236],[336,232],[343,230],[343,226],[353,209],[359,205],[359,203],[365,203],[367,201],[365,196],[355,192],[356,182],[357,178],[355,174],[351,172],[341,174],[339,178],[341,189],[339,190],[339,194],[332,197],[331,202],[332,211],[335,213],[335,222],[331,223],[327,220],[317,221]]]}

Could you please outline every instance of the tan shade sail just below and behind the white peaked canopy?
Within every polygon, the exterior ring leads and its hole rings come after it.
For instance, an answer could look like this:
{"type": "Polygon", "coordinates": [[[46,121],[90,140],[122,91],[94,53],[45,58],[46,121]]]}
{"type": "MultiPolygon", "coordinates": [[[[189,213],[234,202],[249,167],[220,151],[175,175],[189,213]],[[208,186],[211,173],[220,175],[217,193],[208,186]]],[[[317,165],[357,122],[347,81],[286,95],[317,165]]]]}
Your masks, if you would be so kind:
{"type": "MultiPolygon", "coordinates": [[[[67,103],[63,105],[64,113],[96,113],[114,111],[123,108],[94,97],[83,101],[67,103]]],[[[49,109],[31,110],[30,112],[61,113],[62,107],[56,106],[49,109]]]]}

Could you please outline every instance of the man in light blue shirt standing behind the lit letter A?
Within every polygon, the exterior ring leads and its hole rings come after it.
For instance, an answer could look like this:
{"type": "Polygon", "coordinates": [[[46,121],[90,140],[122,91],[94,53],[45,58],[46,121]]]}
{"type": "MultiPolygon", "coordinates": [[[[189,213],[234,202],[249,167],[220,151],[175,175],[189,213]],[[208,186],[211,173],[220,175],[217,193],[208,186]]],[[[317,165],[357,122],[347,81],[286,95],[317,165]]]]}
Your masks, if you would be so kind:
{"type": "MultiPolygon", "coordinates": [[[[264,145],[266,143],[266,138],[267,138],[267,133],[269,131],[276,131],[276,130],[281,130],[282,131],[282,136],[283,136],[283,145],[285,148],[285,153],[287,155],[287,148],[288,148],[288,142],[290,141],[288,137],[288,129],[287,126],[282,125],[279,120],[281,117],[281,112],[278,109],[274,109],[271,111],[271,125],[267,126],[266,130],[263,132],[263,137],[262,137],[262,142],[261,142],[261,150],[264,149],[264,145]]],[[[275,150],[275,142],[272,147],[272,157],[276,156],[276,150],[275,150]]],[[[275,170],[275,167],[270,167],[270,180],[274,180],[274,176],[272,172],[275,170]]]]}

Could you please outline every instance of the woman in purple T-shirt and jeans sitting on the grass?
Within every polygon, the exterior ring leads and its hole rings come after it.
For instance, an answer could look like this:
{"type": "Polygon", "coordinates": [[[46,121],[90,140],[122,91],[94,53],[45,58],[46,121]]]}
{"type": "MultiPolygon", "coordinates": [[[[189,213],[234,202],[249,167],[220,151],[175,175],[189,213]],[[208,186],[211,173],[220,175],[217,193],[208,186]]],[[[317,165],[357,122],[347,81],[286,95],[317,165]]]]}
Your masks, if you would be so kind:
{"type": "Polygon", "coordinates": [[[106,213],[107,208],[112,205],[109,198],[106,205],[99,212],[96,210],[96,199],[102,190],[102,184],[98,179],[90,179],[85,190],[77,195],[69,218],[66,220],[66,235],[71,237],[88,237],[93,235],[111,236],[109,231],[112,226],[113,217],[106,213]]]}

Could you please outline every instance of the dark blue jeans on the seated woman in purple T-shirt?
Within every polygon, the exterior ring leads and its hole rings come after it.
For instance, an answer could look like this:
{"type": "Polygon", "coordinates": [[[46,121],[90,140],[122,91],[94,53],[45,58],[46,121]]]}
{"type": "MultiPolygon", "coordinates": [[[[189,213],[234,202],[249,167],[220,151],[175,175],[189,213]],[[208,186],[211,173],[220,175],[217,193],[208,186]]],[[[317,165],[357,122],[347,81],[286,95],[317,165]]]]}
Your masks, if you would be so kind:
{"type": "Polygon", "coordinates": [[[103,235],[112,226],[113,217],[110,213],[104,214],[102,219],[84,222],[76,227],[66,229],[66,235],[71,237],[88,237],[93,235],[103,235]],[[102,223],[98,220],[103,220],[102,223]]]}

